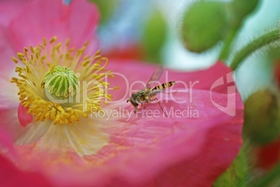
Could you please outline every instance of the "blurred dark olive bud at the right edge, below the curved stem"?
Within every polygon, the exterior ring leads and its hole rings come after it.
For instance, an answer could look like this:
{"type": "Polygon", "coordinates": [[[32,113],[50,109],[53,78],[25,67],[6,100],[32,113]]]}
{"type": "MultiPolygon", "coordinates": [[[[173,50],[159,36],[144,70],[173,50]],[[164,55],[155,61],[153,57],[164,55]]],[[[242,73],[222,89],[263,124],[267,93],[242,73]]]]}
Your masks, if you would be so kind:
{"type": "Polygon", "coordinates": [[[249,138],[254,144],[265,144],[280,134],[277,94],[270,90],[256,91],[245,101],[244,139],[249,138]]]}

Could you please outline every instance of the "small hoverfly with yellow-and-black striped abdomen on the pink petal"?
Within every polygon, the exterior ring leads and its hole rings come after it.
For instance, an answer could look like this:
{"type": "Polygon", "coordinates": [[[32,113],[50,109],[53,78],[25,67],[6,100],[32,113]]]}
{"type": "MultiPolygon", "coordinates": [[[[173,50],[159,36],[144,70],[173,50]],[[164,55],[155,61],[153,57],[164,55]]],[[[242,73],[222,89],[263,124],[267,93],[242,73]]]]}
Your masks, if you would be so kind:
{"type": "MultiPolygon", "coordinates": [[[[165,82],[163,84],[159,84],[156,87],[154,87],[153,89],[150,89],[150,86],[153,83],[155,83],[157,80],[160,80],[160,77],[162,76],[162,71],[163,71],[162,66],[157,68],[155,70],[155,72],[153,73],[153,75],[150,77],[150,80],[148,80],[148,83],[146,84],[145,89],[141,89],[141,90],[137,91],[136,93],[132,93],[130,98],[127,99],[127,103],[130,102],[131,105],[133,107],[135,107],[134,113],[137,112],[139,104],[141,104],[141,106],[142,106],[143,103],[151,103],[153,100],[157,100],[157,98],[155,98],[157,93],[160,93],[164,89],[166,89],[168,87],[172,87],[173,85],[176,84],[175,81],[170,81],[170,82],[165,82]]],[[[160,102],[159,102],[159,105],[160,105],[160,102]]],[[[160,108],[162,109],[161,105],[160,105],[160,108]]],[[[164,112],[163,109],[162,109],[162,112],[164,112]]],[[[166,115],[165,112],[164,112],[164,114],[166,115]]],[[[166,115],[166,117],[167,117],[167,115],[166,115]]]]}

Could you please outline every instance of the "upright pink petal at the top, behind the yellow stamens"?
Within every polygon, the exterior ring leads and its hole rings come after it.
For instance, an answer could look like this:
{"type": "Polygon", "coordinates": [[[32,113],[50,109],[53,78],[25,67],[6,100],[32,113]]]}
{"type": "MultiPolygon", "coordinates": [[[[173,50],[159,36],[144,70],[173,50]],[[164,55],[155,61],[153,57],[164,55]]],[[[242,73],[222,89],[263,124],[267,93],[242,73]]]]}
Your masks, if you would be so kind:
{"type": "Polygon", "coordinates": [[[95,40],[93,31],[98,21],[97,8],[86,0],[73,1],[70,6],[63,1],[38,0],[22,8],[10,23],[10,33],[13,46],[20,52],[26,46],[42,43],[43,37],[49,40],[53,36],[60,41],[70,38],[70,45],[81,47],[86,40],[95,40]]]}

